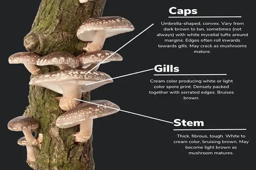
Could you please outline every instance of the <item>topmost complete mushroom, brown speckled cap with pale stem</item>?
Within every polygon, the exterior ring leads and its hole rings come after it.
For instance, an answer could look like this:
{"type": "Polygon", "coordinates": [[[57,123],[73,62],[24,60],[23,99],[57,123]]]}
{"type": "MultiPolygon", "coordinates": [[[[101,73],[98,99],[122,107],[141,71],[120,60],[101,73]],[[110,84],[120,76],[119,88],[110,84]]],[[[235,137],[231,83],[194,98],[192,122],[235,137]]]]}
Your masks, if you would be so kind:
{"type": "Polygon", "coordinates": [[[95,17],[87,19],[76,35],[82,41],[92,41],[84,48],[90,52],[101,50],[106,38],[133,30],[131,22],[123,17],[95,17]]]}

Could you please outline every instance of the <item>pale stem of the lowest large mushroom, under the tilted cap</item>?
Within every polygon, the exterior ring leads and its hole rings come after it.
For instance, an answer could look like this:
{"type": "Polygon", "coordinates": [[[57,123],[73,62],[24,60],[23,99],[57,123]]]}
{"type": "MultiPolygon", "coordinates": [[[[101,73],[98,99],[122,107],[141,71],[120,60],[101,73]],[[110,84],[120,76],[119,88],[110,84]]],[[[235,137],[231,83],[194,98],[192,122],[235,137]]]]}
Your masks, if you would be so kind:
{"type": "Polygon", "coordinates": [[[80,123],[80,131],[75,135],[76,142],[86,142],[93,133],[93,119],[86,119],[80,123]]]}

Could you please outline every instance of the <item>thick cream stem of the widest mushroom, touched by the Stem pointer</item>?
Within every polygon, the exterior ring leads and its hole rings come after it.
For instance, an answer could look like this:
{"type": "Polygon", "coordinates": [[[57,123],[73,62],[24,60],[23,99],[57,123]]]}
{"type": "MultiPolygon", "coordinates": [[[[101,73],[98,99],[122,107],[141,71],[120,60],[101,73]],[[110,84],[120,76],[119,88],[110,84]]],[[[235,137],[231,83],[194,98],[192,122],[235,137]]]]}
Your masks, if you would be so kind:
{"type": "Polygon", "coordinates": [[[60,98],[59,107],[63,111],[68,111],[80,103],[80,101],[74,100],[81,99],[82,97],[82,90],[80,85],[63,84],[60,85],[60,88],[63,90],[63,97],[60,98]]]}

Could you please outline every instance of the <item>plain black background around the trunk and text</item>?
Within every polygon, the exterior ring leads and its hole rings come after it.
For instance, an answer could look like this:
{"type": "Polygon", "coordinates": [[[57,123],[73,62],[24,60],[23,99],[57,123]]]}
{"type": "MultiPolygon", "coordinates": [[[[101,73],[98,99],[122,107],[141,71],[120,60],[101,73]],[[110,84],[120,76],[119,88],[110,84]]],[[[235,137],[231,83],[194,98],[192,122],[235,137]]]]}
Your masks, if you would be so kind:
{"type": "MultiPolygon", "coordinates": [[[[247,131],[204,131],[182,132],[183,134],[244,134],[248,145],[238,145],[234,155],[189,156],[183,145],[173,144],[177,132],[173,124],[148,119],[124,112],[94,121],[94,159],[96,170],[155,170],[155,169],[251,169],[253,107],[252,79],[252,37],[241,38],[246,49],[214,49],[211,54],[193,54],[192,49],[160,49],[162,38],[156,37],[161,31],[161,21],[238,21],[244,22],[243,30],[252,33],[254,18],[248,8],[249,1],[118,1],[106,2],[103,16],[122,16],[132,22],[135,30],[106,39],[103,50],[115,51],[142,30],[155,25],[118,51],[122,62],[100,66],[103,71],[117,77],[132,72],[153,68],[157,64],[173,64],[180,67],[181,74],[227,73],[224,77],[200,77],[201,79],[233,79],[231,91],[234,95],[202,96],[200,100],[187,101],[176,95],[149,95],[152,89],[150,79],[154,71],[115,79],[91,92],[91,100],[106,99],[125,111],[147,115],[167,121],[176,118],[203,120],[205,129],[247,128],[247,131]],[[187,3],[191,2],[191,3],[187,3]],[[231,3],[229,3],[231,2],[231,3]],[[170,19],[168,10],[197,8],[197,16],[242,16],[232,19],[170,19]]],[[[9,120],[23,114],[28,105],[28,82],[30,74],[23,65],[9,65],[8,57],[16,52],[26,51],[23,38],[29,32],[37,13],[39,0],[1,1],[1,152],[3,169],[30,169],[26,164],[26,149],[17,145],[22,132],[12,132],[6,127],[9,120]],[[4,164],[4,165],[3,165],[4,164]],[[5,168],[6,167],[6,168],[5,168]]],[[[159,77],[160,78],[160,77],[159,77]]],[[[180,77],[179,79],[199,77],[180,77]]],[[[161,79],[163,79],[161,77],[161,79]]],[[[167,79],[167,78],[166,78],[167,79]]],[[[170,79],[170,77],[168,78],[170,79]]]]}

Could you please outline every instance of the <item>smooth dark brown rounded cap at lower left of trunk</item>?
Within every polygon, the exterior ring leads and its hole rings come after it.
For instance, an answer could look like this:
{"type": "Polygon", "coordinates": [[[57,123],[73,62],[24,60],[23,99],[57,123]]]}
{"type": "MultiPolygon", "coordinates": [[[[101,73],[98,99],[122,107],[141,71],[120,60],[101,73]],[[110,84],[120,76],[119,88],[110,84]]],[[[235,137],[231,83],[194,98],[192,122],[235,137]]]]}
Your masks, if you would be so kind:
{"type": "Polygon", "coordinates": [[[18,116],[8,122],[8,129],[11,131],[27,131],[37,129],[39,123],[28,116],[18,116]]]}

